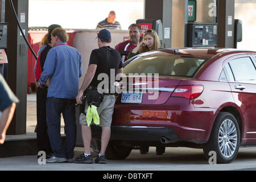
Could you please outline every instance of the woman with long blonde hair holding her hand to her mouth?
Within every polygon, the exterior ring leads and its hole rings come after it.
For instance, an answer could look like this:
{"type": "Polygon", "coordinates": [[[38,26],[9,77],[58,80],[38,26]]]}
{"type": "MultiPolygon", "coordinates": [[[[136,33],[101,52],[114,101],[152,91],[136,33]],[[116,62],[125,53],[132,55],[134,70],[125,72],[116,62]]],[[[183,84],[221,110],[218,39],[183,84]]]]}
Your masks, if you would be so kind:
{"type": "Polygon", "coordinates": [[[127,59],[138,55],[139,53],[154,51],[161,48],[161,43],[158,34],[155,30],[147,30],[143,35],[143,41],[139,43],[127,56],[127,59]]]}

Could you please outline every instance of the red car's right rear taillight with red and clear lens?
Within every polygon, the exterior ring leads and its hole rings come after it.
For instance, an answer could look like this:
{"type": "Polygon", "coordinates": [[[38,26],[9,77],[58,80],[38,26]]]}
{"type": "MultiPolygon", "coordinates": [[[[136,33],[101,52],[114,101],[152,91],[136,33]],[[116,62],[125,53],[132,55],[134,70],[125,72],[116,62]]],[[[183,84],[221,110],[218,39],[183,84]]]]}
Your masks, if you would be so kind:
{"type": "MultiPolygon", "coordinates": [[[[168,88],[175,88],[174,86],[170,86],[168,88]]],[[[172,92],[171,97],[185,97],[188,99],[194,99],[203,92],[203,85],[185,85],[185,86],[177,86],[172,92]]]]}

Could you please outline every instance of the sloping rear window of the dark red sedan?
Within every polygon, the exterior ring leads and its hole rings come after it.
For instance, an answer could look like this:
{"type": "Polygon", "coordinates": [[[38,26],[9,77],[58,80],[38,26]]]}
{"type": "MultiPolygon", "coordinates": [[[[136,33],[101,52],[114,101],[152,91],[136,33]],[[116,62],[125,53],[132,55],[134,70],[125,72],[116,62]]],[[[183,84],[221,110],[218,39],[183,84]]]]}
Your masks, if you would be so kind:
{"type": "Polygon", "coordinates": [[[187,56],[136,57],[123,68],[123,73],[159,73],[159,75],[192,77],[208,59],[187,56]]]}

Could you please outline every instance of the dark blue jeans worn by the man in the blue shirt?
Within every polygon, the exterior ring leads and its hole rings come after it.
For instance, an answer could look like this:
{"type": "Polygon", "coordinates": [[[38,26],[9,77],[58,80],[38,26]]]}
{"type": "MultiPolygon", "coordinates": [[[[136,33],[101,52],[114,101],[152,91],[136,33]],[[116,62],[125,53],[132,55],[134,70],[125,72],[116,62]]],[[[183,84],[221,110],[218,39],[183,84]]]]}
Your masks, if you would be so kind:
{"type": "Polygon", "coordinates": [[[65,98],[47,97],[46,115],[49,141],[51,143],[54,156],[58,158],[72,159],[76,145],[76,100],[65,98]],[[63,146],[60,135],[60,114],[64,118],[64,131],[66,135],[63,146]]]}

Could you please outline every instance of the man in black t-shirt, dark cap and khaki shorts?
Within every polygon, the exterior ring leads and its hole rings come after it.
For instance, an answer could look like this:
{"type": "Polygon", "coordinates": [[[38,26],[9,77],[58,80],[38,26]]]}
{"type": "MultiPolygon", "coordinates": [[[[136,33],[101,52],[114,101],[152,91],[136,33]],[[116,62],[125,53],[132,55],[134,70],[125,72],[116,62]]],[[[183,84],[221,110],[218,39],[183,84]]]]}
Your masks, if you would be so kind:
{"type": "MultiPolygon", "coordinates": [[[[82,104],[81,97],[84,90],[89,87],[98,88],[98,92],[104,93],[104,99],[97,112],[100,118],[101,134],[101,151],[95,160],[95,163],[105,163],[105,150],[108,146],[111,134],[111,122],[114,111],[115,95],[114,81],[118,73],[123,72],[123,64],[118,51],[110,47],[111,34],[108,30],[103,29],[98,32],[98,49],[94,49],[90,55],[88,71],[85,74],[81,89],[77,94],[76,101],[82,104]],[[98,80],[102,78],[102,80],[98,80]],[[100,91],[100,89],[104,89],[100,91]]],[[[88,109],[88,103],[85,105],[85,112],[88,109]]],[[[95,122],[95,121],[94,121],[95,122]]],[[[84,154],[78,156],[75,163],[93,163],[92,155],[90,155],[90,141],[92,139],[92,131],[90,124],[86,122],[86,115],[81,113],[80,124],[82,130],[82,140],[84,143],[84,154]]]]}

